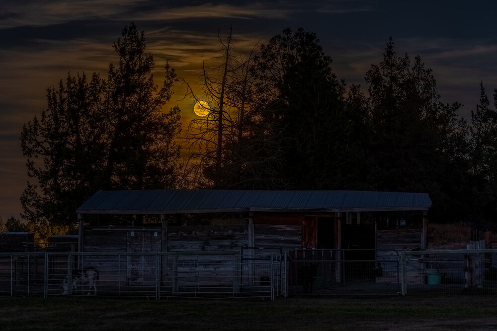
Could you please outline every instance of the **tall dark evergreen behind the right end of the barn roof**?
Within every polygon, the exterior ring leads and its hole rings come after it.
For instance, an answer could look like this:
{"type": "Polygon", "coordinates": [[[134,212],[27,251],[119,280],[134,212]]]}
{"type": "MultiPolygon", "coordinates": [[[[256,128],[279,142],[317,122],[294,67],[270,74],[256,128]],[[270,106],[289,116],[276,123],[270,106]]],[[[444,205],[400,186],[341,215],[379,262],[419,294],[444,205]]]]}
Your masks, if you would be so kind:
{"type": "MultiPolygon", "coordinates": [[[[454,201],[447,185],[453,181],[454,143],[464,130],[460,104],[440,102],[432,70],[419,56],[397,56],[390,39],[379,66],[366,73],[369,91],[369,181],[375,190],[428,192],[431,214],[454,201]]],[[[461,141],[459,141],[461,142],[461,141]]]]}

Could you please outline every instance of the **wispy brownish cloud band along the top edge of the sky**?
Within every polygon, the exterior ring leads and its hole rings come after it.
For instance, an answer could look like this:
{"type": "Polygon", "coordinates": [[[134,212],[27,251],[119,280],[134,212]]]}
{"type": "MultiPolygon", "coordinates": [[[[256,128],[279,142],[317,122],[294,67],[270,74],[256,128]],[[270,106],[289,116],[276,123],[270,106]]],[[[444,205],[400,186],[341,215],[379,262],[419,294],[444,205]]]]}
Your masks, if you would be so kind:
{"type": "Polygon", "coordinates": [[[209,18],[291,19],[302,12],[343,14],[374,10],[357,0],[296,2],[254,2],[244,4],[203,3],[200,5],[150,8],[144,0],[58,0],[5,1],[0,4],[0,29],[48,26],[70,21],[111,18],[120,21],[179,21],[209,18]]]}

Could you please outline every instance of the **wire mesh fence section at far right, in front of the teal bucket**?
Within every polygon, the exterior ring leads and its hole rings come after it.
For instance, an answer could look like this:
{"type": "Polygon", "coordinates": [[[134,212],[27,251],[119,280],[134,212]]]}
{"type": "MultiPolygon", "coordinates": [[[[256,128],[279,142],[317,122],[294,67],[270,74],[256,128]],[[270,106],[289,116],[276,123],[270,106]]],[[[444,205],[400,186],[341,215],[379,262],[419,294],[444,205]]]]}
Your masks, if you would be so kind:
{"type": "Polygon", "coordinates": [[[497,294],[497,250],[406,251],[402,294],[497,294]]]}

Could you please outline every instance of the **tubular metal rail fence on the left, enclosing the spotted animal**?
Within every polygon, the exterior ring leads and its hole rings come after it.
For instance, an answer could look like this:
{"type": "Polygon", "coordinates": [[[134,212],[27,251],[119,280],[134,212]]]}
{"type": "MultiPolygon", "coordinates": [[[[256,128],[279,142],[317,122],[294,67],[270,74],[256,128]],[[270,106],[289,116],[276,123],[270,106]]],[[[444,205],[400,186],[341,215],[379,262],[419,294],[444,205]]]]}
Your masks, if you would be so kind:
{"type": "Polygon", "coordinates": [[[0,295],[286,296],[285,254],[0,253],[0,295]]]}

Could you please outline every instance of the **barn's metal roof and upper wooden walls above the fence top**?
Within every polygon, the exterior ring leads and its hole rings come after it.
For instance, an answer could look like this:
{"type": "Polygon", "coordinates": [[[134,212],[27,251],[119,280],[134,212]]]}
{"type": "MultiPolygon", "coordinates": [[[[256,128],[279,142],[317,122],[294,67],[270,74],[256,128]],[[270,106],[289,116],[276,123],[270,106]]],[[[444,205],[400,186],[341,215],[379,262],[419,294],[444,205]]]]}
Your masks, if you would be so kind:
{"type": "MultiPolygon", "coordinates": [[[[101,215],[132,215],[125,231],[151,232],[150,251],[222,250],[233,247],[280,247],[294,249],[375,249],[374,222],[387,219],[395,228],[407,227],[397,215],[417,212],[420,229],[416,246],[426,248],[427,210],[431,200],[425,193],[370,191],[244,191],[244,190],[143,190],[99,191],[78,209],[79,251],[88,249],[88,229],[113,231],[101,215]],[[181,215],[210,215],[188,223],[181,215]],[[372,214],[380,216],[371,218],[372,214]],[[88,218],[85,215],[97,215],[88,218]],[[174,218],[171,216],[174,215],[174,218]],[[366,216],[367,215],[367,216],[366,216]],[[392,218],[389,218],[389,215],[392,218]],[[139,216],[139,217],[137,217],[139,216]],[[103,219],[103,218],[102,218],[103,219]],[[151,226],[160,220],[160,227],[151,226]],[[224,223],[224,224],[223,224],[224,223]],[[83,225],[87,224],[87,227],[83,225]],[[174,226],[168,226],[174,224],[174,226]],[[193,224],[193,225],[189,225],[193,224]],[[83,231],[85,229],[85,231],[83,231]],[[231,236],[223,243],[203,241],[202,231],[211,237],[225,229],[231,236]],[[214,232],[213,232],[214,231],[214,232]],[[181,233],[179,235],[179,233],[181,233]],[[160,234],[160,235],[159,235],[160,234]],[[188,245],[174,237],[190,237],[188,245]],[[197,242],[193,239],[198,239],[197,242]],[[229,241],[229,243],[228,243],[229,241]],[[195,242],[195,244],[193,244],[195,242]]],[[[387,222],[388,222],[387,221],[387,222]]],[[[414,222],[416,223],[416,222],[414,222]]],[[[122,223],[121,223],[122,224],[122,223]]],[[[388,228],[388,226],[387,226],[388,228]]],[[[223,234],[224,236],[224,234],[223,234]]],[[[380,239],[384,238],[381,235],[380,239]]],[[[399,237],[399,234],[395,235],[399,237]]],[[[107,236],[108,237],[108,236],[107,236]]],[[[110,240],[109,240],[110,241],[110,240]]],[[[102,242],[100,241],[100,244],[102,242]]],[[[406,243],[404,243],[405,245],[406,243]]],[[[381,244],[380,244],[381,245],[381,244]]],[[[99,246],[101,248],[101,246],[99,246]]],[[[393,247],[389,247],[393,248],[393,247]]]]}

